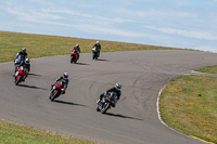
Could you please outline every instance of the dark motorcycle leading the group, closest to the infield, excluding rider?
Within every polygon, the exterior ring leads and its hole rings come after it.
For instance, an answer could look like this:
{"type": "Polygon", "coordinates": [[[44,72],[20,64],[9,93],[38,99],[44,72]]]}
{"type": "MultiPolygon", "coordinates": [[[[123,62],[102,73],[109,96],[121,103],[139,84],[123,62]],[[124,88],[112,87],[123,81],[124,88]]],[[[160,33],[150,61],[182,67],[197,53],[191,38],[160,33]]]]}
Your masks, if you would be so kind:
{"type": "Polygon", "coordinates": [[[97,102],[97,112],[101,114],[105,114],[108,108],[115,107],[117,103],[117,96],[115,92],[110,92],[105,96],[103,96],[102,101],[97,102]]]}

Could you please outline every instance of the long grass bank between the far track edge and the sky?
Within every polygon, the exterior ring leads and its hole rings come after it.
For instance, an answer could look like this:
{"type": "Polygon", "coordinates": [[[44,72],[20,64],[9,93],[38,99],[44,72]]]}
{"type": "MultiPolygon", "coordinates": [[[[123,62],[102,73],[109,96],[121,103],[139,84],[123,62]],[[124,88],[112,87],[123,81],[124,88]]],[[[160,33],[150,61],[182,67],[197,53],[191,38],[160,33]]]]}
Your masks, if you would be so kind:
{"type": "MultiPolygon", "coordinates": [[[[22,48],[27,49],[29,58],[69,54],[76,43],[79,43],[81,53],[89,53],[91,52],[91,48],[95,44],[95,40],[0,31],[0,62],[14,61],[16,53],[20,52],[22,48]]],[[[175,48],[105,40],[100,40],[100,43],[102,45],[102,52],[130,50],[178,50],[175,48]]]]}

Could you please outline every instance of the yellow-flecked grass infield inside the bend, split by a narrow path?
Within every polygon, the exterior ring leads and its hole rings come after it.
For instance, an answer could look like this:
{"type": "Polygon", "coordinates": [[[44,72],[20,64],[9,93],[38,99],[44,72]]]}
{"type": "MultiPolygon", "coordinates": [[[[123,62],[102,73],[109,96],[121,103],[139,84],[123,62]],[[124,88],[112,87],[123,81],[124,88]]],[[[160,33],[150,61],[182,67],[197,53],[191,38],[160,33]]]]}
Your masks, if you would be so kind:
{"type": "MultiPolygon", "coordinates": [[[[217,74],[217,66],[197,71],[217,74]]],[[[217,77],[179,76],[162,92],[159,110],[171,128],[217,144],[217,77]]]]}

